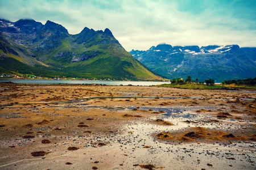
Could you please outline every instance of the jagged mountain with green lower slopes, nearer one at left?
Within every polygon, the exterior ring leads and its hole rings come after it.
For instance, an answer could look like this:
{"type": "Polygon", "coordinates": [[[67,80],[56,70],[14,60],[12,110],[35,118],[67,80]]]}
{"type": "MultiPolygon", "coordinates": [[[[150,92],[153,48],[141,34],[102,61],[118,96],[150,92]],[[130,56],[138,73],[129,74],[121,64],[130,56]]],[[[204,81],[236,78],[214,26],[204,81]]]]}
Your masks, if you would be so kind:
{"type": "Polygon", "coordinates": [[[162,79],[119,44],[112,32],[84,28],[71,35],[62,25],[0,19],[0,72],[88,79],[162,79]]]}

